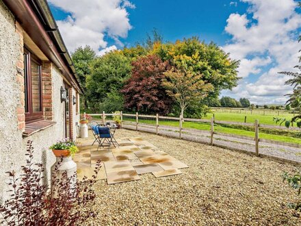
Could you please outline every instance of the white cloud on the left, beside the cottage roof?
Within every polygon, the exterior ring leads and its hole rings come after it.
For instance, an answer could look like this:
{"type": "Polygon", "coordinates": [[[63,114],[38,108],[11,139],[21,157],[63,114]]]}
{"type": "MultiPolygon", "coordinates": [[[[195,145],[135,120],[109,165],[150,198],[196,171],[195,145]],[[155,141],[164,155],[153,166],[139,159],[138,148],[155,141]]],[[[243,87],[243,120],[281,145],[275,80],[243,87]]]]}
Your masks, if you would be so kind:
{"type": "Polygon", "coordinates": [[[105,36],[113,38],[117,45],[122,45],[120,38],[127,38],[131,29],[127,9],[135,8],[135,5],[128,0],[49,0],[49,2],[70,14],[64,21],[57,21],[69,51],[85,45],[90,45],[97,53],[100,49],[114,49],[116,46],[107,47],[105,36]]]}

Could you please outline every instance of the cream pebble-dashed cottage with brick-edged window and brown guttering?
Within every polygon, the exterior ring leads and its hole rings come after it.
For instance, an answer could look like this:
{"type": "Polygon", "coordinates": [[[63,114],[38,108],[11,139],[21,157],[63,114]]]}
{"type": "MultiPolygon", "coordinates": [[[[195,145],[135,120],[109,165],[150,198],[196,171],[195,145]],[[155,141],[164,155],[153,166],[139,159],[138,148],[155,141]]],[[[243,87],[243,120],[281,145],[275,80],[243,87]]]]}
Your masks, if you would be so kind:
{"type": "Polygon", "coordinates": [[[25,164],[27,140],[49,179],[49,147],[77,136],[79,85],[46,0],[0,0],[0,202],[6,171],[25,164]]]}

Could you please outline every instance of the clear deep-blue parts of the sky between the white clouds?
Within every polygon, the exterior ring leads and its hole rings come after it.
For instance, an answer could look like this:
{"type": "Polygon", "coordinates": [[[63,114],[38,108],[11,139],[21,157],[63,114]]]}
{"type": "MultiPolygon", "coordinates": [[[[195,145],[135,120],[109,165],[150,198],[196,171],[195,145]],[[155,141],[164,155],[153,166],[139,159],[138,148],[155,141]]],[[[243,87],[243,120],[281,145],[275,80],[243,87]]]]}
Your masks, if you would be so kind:
{"type": "MultiPolygon", "coordinates": [[[[235,1],[172,0],[172,1],[131,1],[135,8],[127,10],[132,29],[127,38],[121,38],[126,46],[144,40],[146,33],[158,29],[164,40],[175,41],[191,36],[199,36],[205,42],[224,45],[231,36],[224,32],[226,19],[233,12],[246,12],[248,4],[230,4],[235,1]]],[[[60,21],[71,15],[50,4],[55,20],[60,21]]],[[[109,45],[116,45],[114,39],[105,37],[109,45]]],[[[121,46],[120,46],[121,48],[121,46]]]]}

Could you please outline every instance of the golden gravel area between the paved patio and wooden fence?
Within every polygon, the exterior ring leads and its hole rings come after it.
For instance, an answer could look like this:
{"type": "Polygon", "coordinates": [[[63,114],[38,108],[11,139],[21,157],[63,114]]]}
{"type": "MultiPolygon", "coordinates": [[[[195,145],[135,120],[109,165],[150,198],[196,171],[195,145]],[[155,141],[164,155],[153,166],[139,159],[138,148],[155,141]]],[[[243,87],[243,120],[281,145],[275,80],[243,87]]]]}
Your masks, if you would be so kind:
{"type": "Polygon", "coordinates": [[[281,179],[297,168],[197,142],[120,129],[189,165],[183,174],[107,185],[97,181],[98,216],[87,225],[301,225],[287,208],[297,194],[281,179]]]}

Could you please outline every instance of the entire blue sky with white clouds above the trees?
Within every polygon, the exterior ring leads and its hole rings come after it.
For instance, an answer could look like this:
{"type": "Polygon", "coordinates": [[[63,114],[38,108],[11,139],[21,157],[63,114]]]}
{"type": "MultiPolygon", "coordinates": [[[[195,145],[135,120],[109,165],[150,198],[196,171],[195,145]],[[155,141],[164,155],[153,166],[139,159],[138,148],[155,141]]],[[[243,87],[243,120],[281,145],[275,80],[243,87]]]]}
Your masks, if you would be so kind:
{"type": "Polygon", "coordinates": [[[278,71],[298,62],[301,17],[293,0],[49,0],[69,51],[90,45],[100,55],[141,42],[153,28],[164,40],[198,36],[241,60],[237,88],[222,95],[285,103],[290,87],[278,71]]]}

